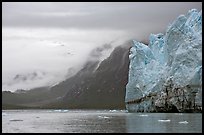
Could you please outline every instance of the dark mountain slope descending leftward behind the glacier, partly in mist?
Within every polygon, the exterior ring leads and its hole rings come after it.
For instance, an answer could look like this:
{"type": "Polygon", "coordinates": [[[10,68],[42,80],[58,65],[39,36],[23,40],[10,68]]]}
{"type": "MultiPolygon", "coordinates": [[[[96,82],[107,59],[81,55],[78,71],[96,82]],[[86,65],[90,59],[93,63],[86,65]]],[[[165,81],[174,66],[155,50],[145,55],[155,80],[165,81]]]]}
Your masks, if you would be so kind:
{"type": "Polygon", "coordinates": [[[109,48],[104,45],[93,50],[80,71],[52,87],[2,92],[3,108],[124,109],[130,44],[116,47],[100,61],[97,53],[109,48]]]}

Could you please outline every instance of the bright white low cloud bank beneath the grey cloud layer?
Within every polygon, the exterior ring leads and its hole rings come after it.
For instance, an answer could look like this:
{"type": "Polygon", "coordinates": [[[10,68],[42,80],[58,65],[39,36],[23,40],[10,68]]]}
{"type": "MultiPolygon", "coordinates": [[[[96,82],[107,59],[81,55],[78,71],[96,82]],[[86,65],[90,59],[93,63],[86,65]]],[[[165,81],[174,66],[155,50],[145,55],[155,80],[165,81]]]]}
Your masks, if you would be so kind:
{"type": "Polygon", "coordinates": [[[63,81],[87,60],[104,59],[114,46],[126,40],[122,37],[128,38],[127,33],[118,30],[3,28],[2,33],[3,90],[12,91],[63,81]],[[28,75],[35,72],[46,74],[29,79],[28,75]],[[16,75],[21,76],[21,81],[13,80],[16,75]]]}

